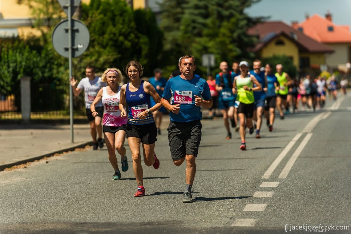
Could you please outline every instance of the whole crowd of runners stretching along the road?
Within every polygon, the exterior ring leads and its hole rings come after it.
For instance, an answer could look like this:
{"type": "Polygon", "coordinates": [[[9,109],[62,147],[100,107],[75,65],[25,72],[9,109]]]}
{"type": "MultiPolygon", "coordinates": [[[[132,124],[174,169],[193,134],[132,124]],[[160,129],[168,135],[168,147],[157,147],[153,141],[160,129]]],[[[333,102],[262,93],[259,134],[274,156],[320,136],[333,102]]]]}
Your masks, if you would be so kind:
{"type": "MultiPolygon", "coordinates": [[[[307,75],[297,81],[284,72],[282,64],[253,62],[252,69],[246,61],[234,62],[232,70],[227,62],[221,62],[221,70],[207,81],[194,74],[195,58],[185,55],[178,61],[179,70],[174,71],[168,81],[160,69],[154,70],[154,77],[141,79],[143,67],[138,61],[130,61],[125,73],[130,82],[120,86],[122,72],[107,68],[101,78],[95,76],[95,68],[86,67],[86,76],[77,87],[74,77],[70,78],[73,94],[78,96],[84,89],[85,106],[93,150],[104,146],[102,133],[108,151],[108,159],[114,169],[113,180],[121,178],[115,151],[121,156],[121,170],[128,170],[124,147],[127,138],[131,154],[137,191],[134,197],[145,196],[141,150],[146,166],[158,169],[160,161],[155,152],[157,136],[161,134],[160,123],[163,113],[169,112],[167,128],[171,157],[174,165],[186,163],[185,192],[182,201],[192,202],[191,189],[196,174],[196,157],[201,141],[201,108],[209,108],[209,118],[216,116],[217,109],[223,117],[226,139],[232,138],[231,128],[239,131],[240,150],[246,150],[245,135],[248,131],[260,138],[263,116],[269,131],[273,131],[276,108],[281,120],[290,111],[305,108],[323,108],[326,94],[329,99],[337,98],[338,84],[334,76],[325,80],[321,76],[313,79],[307,75]],[[126,106],[128,108],[126,109],[126,106]],[[291,107],[291,108],[290,108],[291,107]],[[102,121],[102,126],[101,126],[102,121]]],[[[346,94],[347,80],[340,82],[346,94]]]]}

